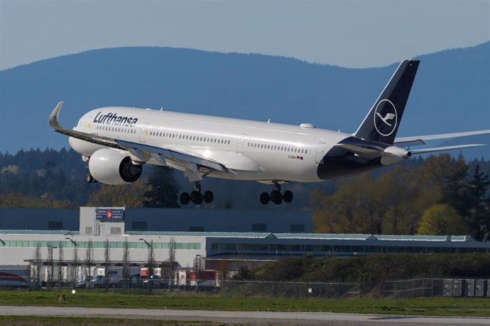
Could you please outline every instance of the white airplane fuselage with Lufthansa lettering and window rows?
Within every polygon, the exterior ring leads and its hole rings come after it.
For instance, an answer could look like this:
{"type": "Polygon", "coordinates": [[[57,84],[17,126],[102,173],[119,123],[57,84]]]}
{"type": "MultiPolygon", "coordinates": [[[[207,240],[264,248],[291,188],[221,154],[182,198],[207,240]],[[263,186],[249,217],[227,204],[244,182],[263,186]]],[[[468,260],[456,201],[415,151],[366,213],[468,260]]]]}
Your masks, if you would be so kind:
{"type": "MultiPolygon", "coordinates": [[[[325,181],[317,176],[318,164],[334,145],[352,136],[308,126],[126,107],[89,111],[74,130],[153,147],[209,154],[211,159],[233,155],[243,160],[237,165],[244,169],[235,169],[232,174],[213,171],[209,176],[295,182],[325,181]],[[116,113],[117,118],[108,116],[109,113],[116,113]]],[[[104,148],[73,137],[70,145],[87,157],[104,148]]],[[[145,163],[163,165],[156,159],[145,163]]]]}

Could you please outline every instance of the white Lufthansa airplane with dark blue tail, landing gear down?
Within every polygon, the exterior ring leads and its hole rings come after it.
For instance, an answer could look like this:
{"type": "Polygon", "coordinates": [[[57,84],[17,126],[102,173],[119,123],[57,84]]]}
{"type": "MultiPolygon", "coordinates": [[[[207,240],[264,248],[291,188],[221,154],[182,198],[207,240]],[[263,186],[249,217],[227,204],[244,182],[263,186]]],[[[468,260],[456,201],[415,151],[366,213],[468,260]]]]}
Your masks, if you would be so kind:
{"type": "Polygon", "coordinates": [[[193,182],[190,193],[180,194],[183,205],[213,201],[212,191],[201,191],[205,177],[269,184],[272,191],[261,193],[260,202],[278,205],[293,201],[293,192],[282,193],[282,184],[329,181],[403,162],[413,154],[484,145],[410,149],[428,140],[490,130],[396,137],[419,62],[401,62],[352,134],[311,123],[283,125],[114,106],[85,113],[70,130],[58,122],[63,102],[54,108],[49,123],[69,136],[72,149],[82,154],[88,182],[129,184],[141,176],[143,164],[152,164],[178,169],[193,182]]]}

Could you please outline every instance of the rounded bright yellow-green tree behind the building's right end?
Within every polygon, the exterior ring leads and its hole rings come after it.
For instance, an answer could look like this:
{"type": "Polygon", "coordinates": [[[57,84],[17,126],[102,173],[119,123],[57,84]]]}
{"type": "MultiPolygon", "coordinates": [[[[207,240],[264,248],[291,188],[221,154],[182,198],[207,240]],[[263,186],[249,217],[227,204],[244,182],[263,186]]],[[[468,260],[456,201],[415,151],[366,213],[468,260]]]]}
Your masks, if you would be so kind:
{"type": "Polygon", "coordinates": [[[467,225],[454,207],[437,204],[425,210],[418,235],[466,235],[467,225]]]}

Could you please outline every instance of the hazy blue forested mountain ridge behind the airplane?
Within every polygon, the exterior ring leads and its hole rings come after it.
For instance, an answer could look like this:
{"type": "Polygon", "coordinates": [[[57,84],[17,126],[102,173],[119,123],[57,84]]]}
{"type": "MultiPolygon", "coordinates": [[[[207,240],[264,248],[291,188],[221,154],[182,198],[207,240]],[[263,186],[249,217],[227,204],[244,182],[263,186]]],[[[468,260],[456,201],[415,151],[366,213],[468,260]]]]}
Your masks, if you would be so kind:
{"type": "MultiPolygon", "coordinates": [[[[490,128],[490,42],[418,59],[398,135],[490,128]]],[[[0,152],[66,146],[67,137],[48,126],[58,101],[65,101],[60,120],[66,126],[92,108],[120,105],[354,132],[397,65],[347,69],[169,47],[55,57],[0,71],[0,152]]]]}

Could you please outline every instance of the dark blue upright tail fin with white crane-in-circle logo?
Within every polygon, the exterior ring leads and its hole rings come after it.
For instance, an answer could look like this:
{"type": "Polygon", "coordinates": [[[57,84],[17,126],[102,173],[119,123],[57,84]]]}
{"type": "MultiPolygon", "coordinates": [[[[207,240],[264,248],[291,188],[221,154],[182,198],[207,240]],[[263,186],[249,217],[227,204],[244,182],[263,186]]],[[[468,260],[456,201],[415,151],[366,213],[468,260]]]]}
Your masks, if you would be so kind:
{"type": "Polygon", "coordinates": [[[419,60],[404,60],[381,92],[355,136],[393,145],[419,60]]]}

